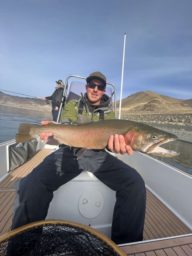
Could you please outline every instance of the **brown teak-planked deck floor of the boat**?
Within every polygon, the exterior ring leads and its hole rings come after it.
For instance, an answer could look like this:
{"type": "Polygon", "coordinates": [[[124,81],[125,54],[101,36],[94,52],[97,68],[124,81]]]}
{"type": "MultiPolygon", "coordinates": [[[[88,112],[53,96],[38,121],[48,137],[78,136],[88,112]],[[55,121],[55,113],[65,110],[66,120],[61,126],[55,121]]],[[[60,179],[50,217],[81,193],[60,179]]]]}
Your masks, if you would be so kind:
{"type": "MultiPolygon", "coordinates": [[[[49,153],[51,149],[38,150],[25,164],[19,166],[0,182],[0,235],[11,228],[15,189],[13,184],[25,177],[49,153]]],[[[168,239],[168,237],[191,234],[192,231],[170,211],[150,190],[147,190],[147,205],[143,240],[161,239],[121,247],[127,255],[165,256],[192,255],[192,236],[168,239]],[[164,249],[163,249],[164,248],[164,249]]]]}

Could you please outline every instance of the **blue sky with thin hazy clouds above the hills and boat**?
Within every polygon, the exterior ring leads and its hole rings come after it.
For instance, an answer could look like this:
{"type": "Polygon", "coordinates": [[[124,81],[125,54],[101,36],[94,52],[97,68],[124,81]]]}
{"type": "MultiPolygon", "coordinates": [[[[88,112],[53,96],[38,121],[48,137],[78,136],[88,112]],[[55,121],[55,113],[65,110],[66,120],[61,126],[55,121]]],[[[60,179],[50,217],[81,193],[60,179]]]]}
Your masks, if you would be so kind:
{"type": "Polygon", "coordinates": [[[69,74],[102,72],[120,98],[154,91],[192,98],[191,0],[6,0],[0,9],[0,89],[52,94],[69,74]]]}

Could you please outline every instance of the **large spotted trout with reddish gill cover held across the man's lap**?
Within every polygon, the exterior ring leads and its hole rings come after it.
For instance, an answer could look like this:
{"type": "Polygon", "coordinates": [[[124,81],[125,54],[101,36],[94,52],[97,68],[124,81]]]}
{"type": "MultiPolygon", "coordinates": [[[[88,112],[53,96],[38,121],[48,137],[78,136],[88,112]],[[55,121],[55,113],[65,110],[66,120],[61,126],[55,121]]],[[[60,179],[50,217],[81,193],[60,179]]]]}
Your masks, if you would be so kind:
{"type": "Polygon", "coordinates": [[[177,140],[176,135],[147,124],[120,119],[92,122],[81,115],[78,116],[76,123],[78,125],[21,123],[19,133],[15,135],[16,142],[30,141],[43,132],[52,132],[53,136],[48,138],[46,144],[65,144],[82,148],[78,153],[78,158],[80,158],[87,149],[106,148],[110,135],[119,134],[123,135],[126,145],[131,146],[132,150],[155,156],[175,157],[179,155],[177,152],[159,147],[161,144],[177,140]]]}

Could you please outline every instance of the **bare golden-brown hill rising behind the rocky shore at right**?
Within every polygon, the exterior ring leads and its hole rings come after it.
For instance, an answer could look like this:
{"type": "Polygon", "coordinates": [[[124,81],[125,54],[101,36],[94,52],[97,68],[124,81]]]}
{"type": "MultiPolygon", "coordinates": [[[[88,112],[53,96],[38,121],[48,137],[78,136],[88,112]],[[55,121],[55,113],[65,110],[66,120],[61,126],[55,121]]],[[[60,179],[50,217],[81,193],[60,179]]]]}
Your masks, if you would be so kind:
{"type": "MultiPolygon", "coordinates": [[[[119,101],[117,110],[119,111],[119,101]]],[[[182,100],[152,91],[142,91],[122,100],[121,113],[192,113],[192,99],[182,100]]]]}

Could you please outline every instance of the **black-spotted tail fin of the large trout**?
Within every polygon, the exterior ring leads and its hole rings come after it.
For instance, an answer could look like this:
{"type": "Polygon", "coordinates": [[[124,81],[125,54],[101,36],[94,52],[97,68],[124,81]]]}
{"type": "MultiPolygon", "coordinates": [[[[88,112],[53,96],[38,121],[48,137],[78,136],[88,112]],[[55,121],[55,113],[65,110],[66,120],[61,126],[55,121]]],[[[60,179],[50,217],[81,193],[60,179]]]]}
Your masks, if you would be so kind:
{"type": "Polygon", "coordinates": [[[25,141],[30,141],[35,139],[37,137],[37,134],[31,131],[31,128],[36,128],[38,126],[40,125],[28,124],[28,123],[19,124],[19,128],[18,128],[19,133],[15,135],[15,141],[17,143],[20,143],[20,142],[25,142],[25,141]]]}

